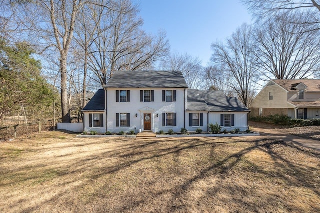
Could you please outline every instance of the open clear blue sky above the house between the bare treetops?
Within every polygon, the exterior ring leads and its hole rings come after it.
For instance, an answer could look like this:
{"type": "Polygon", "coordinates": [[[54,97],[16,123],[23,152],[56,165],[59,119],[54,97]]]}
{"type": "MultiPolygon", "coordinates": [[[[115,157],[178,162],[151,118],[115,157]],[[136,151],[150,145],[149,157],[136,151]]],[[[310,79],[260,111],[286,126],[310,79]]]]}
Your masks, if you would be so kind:
{"type": "Polygon", "coordinates": [[[251,16],[239,0],[133,0],[143,29],[166,31],[171,50],[209,62],[212,42],[224,40],[251,16]]]}

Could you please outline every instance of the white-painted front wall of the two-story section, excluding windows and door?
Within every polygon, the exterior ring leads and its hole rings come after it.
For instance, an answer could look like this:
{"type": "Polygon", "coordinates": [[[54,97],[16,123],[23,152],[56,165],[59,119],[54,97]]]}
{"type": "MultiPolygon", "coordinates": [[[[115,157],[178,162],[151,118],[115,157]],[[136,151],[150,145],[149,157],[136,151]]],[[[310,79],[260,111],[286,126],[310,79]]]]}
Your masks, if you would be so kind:
{"type": "Polygon", "coordinates": [[[107,89],[107,130],[128,132],[143,131],[143,113],[151,114],[151,131],[179,132],[184,127],[184,88],[117,88],[107,89]],[[162,102],[162,89],[176,90],[176,101],[162,102]],[[115,102],[115,90],[130,90],[129,102],[115,102]],[[154,101],[140,102],[140,90],[154,90],[154,101]],[[116,127],[116,113],[130,113],[130,127],[116,127]],[[162,113],[176,113],[176,126],[162,126],[162,113]],[[137,114],[137,117],[135,117],[137,114]],[[156,116],[158,115],[158,116],[156,116]]]}

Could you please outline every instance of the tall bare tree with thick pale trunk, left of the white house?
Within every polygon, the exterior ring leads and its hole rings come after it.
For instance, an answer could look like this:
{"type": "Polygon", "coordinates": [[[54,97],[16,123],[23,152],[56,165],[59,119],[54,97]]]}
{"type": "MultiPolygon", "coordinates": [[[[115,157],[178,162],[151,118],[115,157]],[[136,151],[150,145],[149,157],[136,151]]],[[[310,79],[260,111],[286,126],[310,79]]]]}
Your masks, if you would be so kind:
{"type": "Polygon", "coordinates": [[[106,6],[103,0],[17,0],[6,3],[18,20],[11,21],[11,28],[18,27],[20,38],[27,37],[31,43],[45,46],[43,51],[52,47],[58,50],[62,122],[70,122],[67,99],[68,51],[73,40],[75,21],[86,4],[106,6]]]}

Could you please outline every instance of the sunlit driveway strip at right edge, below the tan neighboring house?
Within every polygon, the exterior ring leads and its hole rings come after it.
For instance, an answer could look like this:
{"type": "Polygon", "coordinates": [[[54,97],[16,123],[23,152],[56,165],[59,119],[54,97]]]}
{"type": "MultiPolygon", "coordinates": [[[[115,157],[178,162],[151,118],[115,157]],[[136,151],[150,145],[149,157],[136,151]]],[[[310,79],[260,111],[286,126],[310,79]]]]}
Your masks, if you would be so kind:
{"type": "MultiPolygon", "coordinates": [[[[303,147],[320,150],[319,140],[313,140],[309,138],[292,135],[288,133],[287,128],[281,128],[279,126],[273,126],[269,124],[266,125],[266,124],[261,124],[256,122],[252,122],[250,125],[250,128],[252,129],[252,131],[260,133],[260,136],[257,136],[258,138],[282,139],[285,142],[288,141],[295,144],[299,144],[303,147]]],[[[301,127],[301,128],[308,128],[308,127],[301,127]]]]}

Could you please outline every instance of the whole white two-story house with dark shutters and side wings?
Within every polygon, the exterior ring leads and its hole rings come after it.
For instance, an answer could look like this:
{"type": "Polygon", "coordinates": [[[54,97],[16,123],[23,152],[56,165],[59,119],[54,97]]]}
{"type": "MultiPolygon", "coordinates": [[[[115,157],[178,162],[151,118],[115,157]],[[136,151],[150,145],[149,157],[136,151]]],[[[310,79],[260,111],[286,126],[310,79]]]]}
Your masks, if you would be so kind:
{"type": "Polygon", "coordinates": [[[220,91],[188,89],[180,71],[117,71],[82,110],[84,130],[247,129],[249,110],[220,91]]]}

